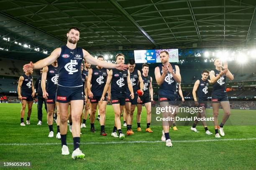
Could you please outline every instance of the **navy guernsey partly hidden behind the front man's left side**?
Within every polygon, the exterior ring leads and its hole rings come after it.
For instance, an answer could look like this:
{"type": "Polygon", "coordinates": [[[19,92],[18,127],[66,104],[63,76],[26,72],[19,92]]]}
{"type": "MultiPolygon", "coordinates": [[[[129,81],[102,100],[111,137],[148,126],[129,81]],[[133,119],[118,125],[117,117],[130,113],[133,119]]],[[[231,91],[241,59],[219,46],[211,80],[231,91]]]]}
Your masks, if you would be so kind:
{"type": "Polygon", "coordinates": [[[59,67],[48,65],[48,72],[46,77],[46,81],[47,81],[46,92],[48,92],[49,95],[54,95],[56,93],[58,77],[59,77],[59,67]]]}

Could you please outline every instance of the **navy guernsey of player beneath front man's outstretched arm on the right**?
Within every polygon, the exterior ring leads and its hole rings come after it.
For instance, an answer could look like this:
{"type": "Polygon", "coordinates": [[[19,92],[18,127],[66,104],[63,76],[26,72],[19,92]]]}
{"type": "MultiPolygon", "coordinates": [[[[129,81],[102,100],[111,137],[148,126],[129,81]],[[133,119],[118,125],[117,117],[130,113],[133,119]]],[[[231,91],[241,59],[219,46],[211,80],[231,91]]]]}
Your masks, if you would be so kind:
{"type": "Polygon", "coordinates": [[[92,87],[93,96],[101,96],[107,82],[108,72],[106,68],[92,68],[92,87]]]}

